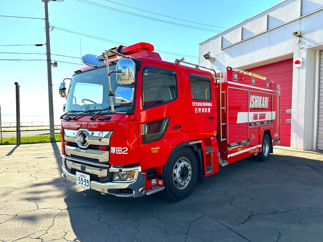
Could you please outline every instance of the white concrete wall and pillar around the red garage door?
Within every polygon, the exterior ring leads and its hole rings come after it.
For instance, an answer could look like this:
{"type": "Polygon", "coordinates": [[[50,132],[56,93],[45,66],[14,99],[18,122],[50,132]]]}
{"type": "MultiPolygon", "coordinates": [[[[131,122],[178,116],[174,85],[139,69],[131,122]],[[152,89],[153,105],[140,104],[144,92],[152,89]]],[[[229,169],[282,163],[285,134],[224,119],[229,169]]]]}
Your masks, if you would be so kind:
{"type": "Polygon", "coordinates": [[[317,136],[316,51],[322,49],[323,0],[286,0],[200,43],[199,64],[248,69],[303,58],[303,67],[293,67],[291,148],[310,150],[317,136]],[[294,37],[299,29],[302,37],[294,37]],[[212,63],[203,58],[208,51],[212,63]]]}

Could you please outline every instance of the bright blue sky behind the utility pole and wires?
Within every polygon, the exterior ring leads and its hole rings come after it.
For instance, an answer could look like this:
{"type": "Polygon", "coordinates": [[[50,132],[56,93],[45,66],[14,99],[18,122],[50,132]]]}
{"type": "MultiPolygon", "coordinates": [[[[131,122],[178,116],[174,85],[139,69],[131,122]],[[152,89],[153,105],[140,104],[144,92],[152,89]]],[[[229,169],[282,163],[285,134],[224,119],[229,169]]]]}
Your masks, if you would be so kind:
{"type": "MultiPolygon", "coordinates": [[[[52,68],[55,121],[59,121],[59,116],[63,113],[62,105],[65,100],[58,94],[59,83],[64,78],[70,78],[74,74],[73,71],[78,69],[81,55],[88,53],[99,55],[103,50],[117,46],[120,43],[131,45],[138,42],[148,42],[153,44],[157,51],[175,53],[164,54],[160,52],[163,60],[173,62],[176,58],[181,58],[182,56],[192,56],[185,57],[185,60],[198,63],[198,44],[216,35],[217,32],[214,31],[222,31],[224,28],[234,26],[278,3],[279,0],[214,0],[205,1],[203,4],[202,2],[191,0],[65,0],[63,2],[49,2],[49,23],[51,26],[54,26],[54,29],[50,32],[51,59],[52,62],[54,60],[58,61],[58,67],[52,68]],[[104,5],[106,7],[98,5],[104,5]],[[135,15],[124,13],[123,11],[135,15]],[[173,25],[136,15],[209,30],[173,25]],[[111,42],[73,34],[61,29],[103,38],[111,42]]],[[[44,3],[41,0],[7,0],[1,1],[0,5],[0,15],[3,16],[43,18],[45,13],[44,3]]],[[[45,60],[46,46],[29,46],[44,44],[46,42],[44,26],[45,23],[42,19],[0,16],[0,45],[26,45],[0,46],[0,52],[40,53],[0,53],[0,59],[45,60]]],[[[12,115],[16,113],[14,84],[16,81],[21,86],[21,121],[27,121],[26,117],[28,116],[30,116],[28,121],[48,120],[46,66],[46,61],[0,60],[0,106],[2,122],[15,120],[12,115]]]]}

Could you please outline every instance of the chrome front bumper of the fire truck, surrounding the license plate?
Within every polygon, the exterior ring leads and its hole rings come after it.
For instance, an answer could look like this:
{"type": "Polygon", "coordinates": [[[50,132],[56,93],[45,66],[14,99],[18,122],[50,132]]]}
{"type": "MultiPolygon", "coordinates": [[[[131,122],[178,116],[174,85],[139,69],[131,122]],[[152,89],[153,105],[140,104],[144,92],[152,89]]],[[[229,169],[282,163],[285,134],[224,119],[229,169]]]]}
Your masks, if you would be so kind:
{"type": "MultiPolygon", "coordinates": [[[[63,164],[65,160],[65,156],[62,155],[63,164]]],[[[73,168],[79,170],[80,172],[89,171],[91,170],[92,166],[90,165],[79,165],[80,169],[78,169],[78,163],[73,163],[73,168]],[[82,170],[81,170],[82,169],[82,170]]],[[[137,170],[137,176],[134,181],[129,183],[121,183],[121,182],[107,182],[107,183],[100,183],[96,181],[90,181],[90,189],[97,190],[101,193],[110,194],[118,197],[141,197],[145,195],[145,192],[141,193],[140,190],[145,188],[145,178],[144,174],[141,173],[141,166],[131,167],[131,168],[120,168],[110,166],[109,168],[109,175],[112,175],[113,172],[118,171],[129,171],[129,170],[137,170]],[[123,190],[123,191],[122,191],[123,190]],[[126,192],[125,192],[126,190],[126,192]],[[131,193],[132,190],[132,193],[131,193]]],[[[76,183],[76,175],[71,174],[68,170],[62,165],[62,176],[66,178],[68,181],[76,183]]],[[[95,172],[95,171],[94,171],[95,172]]]]}

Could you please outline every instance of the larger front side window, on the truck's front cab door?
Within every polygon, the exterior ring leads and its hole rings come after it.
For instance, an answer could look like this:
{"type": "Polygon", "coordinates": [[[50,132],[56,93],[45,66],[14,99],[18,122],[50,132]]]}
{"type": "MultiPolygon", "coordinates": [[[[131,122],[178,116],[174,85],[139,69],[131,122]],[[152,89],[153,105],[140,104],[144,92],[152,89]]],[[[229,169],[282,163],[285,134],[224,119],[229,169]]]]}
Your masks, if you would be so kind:
{"type": "Polygon", "coordinates": [[[177,98],[176,72],[173,70],[145,67],[142,75],[142,106],[158,106],[177,98]]]}

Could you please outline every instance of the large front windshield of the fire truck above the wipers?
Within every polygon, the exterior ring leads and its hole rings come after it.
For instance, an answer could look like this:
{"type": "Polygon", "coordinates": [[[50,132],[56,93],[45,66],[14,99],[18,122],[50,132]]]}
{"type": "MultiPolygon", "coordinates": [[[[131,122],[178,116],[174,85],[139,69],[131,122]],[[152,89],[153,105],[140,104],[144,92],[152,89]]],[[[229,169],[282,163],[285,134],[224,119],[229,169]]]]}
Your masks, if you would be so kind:
{"type": "MultiPolygon", "coordinates": [[[[116,65],[109,66],[109,70],[115,70],[116,65]]],[[[115,92],[120,85],[117,83],[116,74],[110,74],[111,91],[115,92]]],[[[110,107],[109,82],[107,76],[107,68],[95,68],[89,71],[80,72],[72,77],[66,100],[66,109],[68,111],[87,111],[102,110],[110,107]]],[[[114,106],[117,111],[130,110],[132,105],[116,105],[113,97],[114,106]]],[[[101,113],[112,113],[108,108],[101,113]]],[[[84,113],[84,115],[92,115],[93,113],[84,113]]]]}

